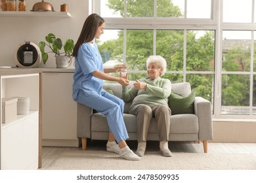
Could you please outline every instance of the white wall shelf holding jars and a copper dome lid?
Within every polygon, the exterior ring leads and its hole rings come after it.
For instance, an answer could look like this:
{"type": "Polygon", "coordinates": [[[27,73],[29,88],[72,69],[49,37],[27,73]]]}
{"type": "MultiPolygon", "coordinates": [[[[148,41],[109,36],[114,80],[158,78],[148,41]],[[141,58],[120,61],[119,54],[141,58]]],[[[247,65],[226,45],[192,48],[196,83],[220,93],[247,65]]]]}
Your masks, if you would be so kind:
{"type": "Polygon", "coordinates": [[[33,11],[0,11],[0,16],[4,17],[62,17],[70,18],[69,12],[33,12],[33,11]]]}

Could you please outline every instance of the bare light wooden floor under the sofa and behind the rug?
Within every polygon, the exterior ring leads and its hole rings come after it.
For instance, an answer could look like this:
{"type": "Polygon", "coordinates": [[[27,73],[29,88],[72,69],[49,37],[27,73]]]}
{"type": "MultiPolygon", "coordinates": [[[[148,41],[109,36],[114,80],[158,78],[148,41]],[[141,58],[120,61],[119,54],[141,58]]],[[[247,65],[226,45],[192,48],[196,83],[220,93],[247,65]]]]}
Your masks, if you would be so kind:
{"type": "MultiPolygon", "coordinates": [[[[128,146],[136,151],[137,141],[127,141],[128,146]]],[[[171,152],[203,153],[203,143],[169,142],[171,152]]],[[[51,164],[64,150],[81,150],[81,147],[43,147],[42,169],[51,164]]],[[[106,141],[88,141],[87,150],[106,150],[106,141]]],[[[147,142],[146,151],[159,152],[159,142],[147,142]]],[[[256,156],[256,143],[208,143],[208,153],[251,153],[256,156]]]]}

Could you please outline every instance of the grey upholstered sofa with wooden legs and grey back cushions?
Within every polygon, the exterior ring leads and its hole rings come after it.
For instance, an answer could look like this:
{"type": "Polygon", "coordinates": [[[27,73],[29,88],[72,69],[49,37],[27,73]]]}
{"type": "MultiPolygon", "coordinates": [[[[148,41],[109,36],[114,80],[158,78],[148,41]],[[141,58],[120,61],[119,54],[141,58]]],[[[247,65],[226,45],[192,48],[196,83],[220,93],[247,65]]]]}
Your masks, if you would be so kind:
{"type": "MultiPolygon", "coordinates": [[[[111,89],[114,95],[122,98],[122,86],[104,83],[105,89],[111,89]]],[[[191,93],[190,84],[181,82],[171,84],[174,92],[182,95],[191,93]]],[[[123,118],[129,140],[137,141],[137,116],[128,114],[131,103],[125,103],[123,118]]],[[[106,116],[95,112],[93,108],[77,103],[77,137],[81,138],[82,149],[87,146],[87,139],[107,140],[108,124],[106,116]]],[[[169,141],[203,141],[203,150],[207,152],[207,142],[213,139],[213,123],[211,119],[211,103],[202,97],[195,97],[194,114],[171,115],[169,141]]],[[[159,141],[156,120],[152,118],[148,131],[148,141],[159,141]]]]}

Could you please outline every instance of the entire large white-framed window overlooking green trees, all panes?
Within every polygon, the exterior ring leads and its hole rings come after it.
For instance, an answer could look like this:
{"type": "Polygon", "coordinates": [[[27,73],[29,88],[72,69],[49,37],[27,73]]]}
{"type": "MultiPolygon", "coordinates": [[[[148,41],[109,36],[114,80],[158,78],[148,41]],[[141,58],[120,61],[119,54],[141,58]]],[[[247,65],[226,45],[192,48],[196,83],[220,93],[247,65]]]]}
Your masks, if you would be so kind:
{"type": "Polygon", "coordinates": [[[190,82],[213,116],[256,114],[256,25],[245,24],[255,22],[253,0],[96,2],[106,21],[98,40],[104,62],[127,63],[134,80],[147,75],[148,56],[161,55],[163,77],[190,82]]]}

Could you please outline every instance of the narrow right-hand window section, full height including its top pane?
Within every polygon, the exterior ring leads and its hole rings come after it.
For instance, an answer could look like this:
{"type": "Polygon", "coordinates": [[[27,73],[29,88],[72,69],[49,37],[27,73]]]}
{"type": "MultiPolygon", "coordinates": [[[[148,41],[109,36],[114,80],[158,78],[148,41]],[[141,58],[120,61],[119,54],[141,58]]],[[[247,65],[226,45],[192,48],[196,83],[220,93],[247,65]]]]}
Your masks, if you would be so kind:
{"type": "Polygon", "coordinates": [[[256,114],[254,3],[223,0],[221,114],[256,114]]]}

